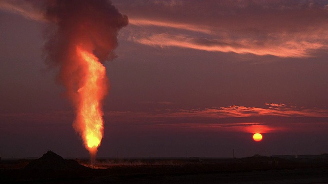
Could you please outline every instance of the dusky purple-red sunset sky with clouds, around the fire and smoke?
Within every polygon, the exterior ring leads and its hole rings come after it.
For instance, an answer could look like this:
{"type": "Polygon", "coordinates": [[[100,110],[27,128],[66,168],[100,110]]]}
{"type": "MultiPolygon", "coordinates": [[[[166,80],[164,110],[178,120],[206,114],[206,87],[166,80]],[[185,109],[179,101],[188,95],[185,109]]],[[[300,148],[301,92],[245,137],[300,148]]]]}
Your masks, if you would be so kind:
{"type": "MultiPolygon", "coordinates": [[[[35,2],[0,0],[0,156],[88,157],[35,2]]],[[[328,1],[112,4],[129,25],[105,62],[98,157],[328,152],[328,1]]]]}

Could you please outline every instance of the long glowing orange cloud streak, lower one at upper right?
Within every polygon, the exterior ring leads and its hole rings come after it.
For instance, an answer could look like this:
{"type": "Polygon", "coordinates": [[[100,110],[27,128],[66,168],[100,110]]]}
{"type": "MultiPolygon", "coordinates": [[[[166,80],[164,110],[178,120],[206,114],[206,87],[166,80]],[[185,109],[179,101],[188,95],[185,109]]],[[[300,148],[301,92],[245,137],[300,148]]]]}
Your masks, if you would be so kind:
{"type": "MultiPolygon", "coordinates": [[[[209,52],[234,52],[237,54],[274,55],[278,57],[309,57],[309,50],[322,48],[322,43],[310,42],[285,42],[284,44],[272,43],[270,48],[258,43],[257,40],[221,40],[194,38],[187,35],[170,35],[167,33],[153,34],[148,37],[133,37],[135,42],[159,47],[179,47],[209,52]]],[[[265,44],[270,44],[265,43],[265,44]]]]}

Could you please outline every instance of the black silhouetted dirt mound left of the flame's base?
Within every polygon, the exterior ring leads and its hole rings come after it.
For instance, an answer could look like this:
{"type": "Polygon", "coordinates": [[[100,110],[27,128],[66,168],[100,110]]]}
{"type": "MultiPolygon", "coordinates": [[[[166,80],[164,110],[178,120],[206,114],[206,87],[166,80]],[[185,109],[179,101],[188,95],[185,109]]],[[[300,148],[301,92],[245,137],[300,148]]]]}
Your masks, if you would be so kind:
{"type": "Polygon", "coordinates": [[[51,170],[51,171],[71,171],[85,170],[85,166],[79,165],[75,160],[64,159],[52,151],[48,151],[42,157],[30,162],[27,170],[51,170]]]}

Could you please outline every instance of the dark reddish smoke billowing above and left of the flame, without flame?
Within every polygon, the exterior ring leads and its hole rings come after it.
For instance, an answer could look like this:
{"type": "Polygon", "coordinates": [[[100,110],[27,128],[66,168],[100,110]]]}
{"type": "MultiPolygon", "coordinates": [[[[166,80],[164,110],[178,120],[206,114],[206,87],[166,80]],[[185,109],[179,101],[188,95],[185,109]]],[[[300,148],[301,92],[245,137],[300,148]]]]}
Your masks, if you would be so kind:
{"type": "Polygon", "coordinates": [[[107,0],[42,2],[44,18],[51,24],[45,43],[47,61],[60,68],[59,81],[74,101],[76,86],[79,86],[76,83],[83,78],[83,71],[73,54],[76,45],[88,48],[100,62],[113,59],[118,31],[128,25],[128,17],[121,15],[107,0]]]}

